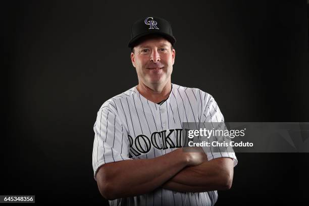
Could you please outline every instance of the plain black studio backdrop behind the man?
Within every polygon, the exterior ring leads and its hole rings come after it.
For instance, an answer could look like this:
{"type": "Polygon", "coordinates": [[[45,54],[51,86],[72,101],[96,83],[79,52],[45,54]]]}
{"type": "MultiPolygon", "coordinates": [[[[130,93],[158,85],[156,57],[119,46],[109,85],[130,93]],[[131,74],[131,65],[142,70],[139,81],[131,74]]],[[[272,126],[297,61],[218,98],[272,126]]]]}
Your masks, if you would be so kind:
{"type": "MultiPolygon", "coordinates": [[[[306,1],[2,3],[0,194],[100,203],[96,112],[134,85],[131,24],[159,16],[177,39],[172,82],[212,94],[226,122],[309,122],[306,1]],[[6,92],[7,91],[7,92],[6,92]]],[[[308,201],[308,153],[238,153],[217,205],[308,201]]]]}

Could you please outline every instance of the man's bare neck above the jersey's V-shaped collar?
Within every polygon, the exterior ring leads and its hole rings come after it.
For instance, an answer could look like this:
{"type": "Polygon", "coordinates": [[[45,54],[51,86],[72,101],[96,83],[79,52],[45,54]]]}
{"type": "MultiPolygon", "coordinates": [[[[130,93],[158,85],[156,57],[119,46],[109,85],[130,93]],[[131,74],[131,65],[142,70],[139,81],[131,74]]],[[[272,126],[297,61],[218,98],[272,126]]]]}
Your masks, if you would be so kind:
{"type": "Polygon", "coordinates": [[[149,101],[158,103],[168,98],[172,89],[172,85],[169,81],[162,88],[150,88],[142,82],[139,82],[136,89],[143,97],[145,97],[149,101]]]}

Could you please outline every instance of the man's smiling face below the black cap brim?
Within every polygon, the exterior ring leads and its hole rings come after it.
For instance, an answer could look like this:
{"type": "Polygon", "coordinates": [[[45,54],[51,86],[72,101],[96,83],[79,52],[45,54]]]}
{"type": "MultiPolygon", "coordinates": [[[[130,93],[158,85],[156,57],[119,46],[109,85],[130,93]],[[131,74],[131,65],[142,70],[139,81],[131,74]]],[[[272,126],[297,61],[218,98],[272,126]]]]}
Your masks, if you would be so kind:
{"type": "Polygon", "coordinates": [[[134,47],[131,61],[138,80],[146,86],[166,84],[171,80],[175,49],[165,38],[149,38],[134,47]]]}

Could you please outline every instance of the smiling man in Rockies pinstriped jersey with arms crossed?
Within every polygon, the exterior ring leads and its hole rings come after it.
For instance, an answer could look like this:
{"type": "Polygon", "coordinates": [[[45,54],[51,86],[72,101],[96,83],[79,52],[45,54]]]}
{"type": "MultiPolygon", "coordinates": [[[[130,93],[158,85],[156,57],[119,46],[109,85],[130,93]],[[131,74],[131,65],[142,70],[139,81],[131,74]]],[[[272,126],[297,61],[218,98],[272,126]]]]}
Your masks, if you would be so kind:
{"type": "Polygon", "coordinates": [[[184,152],[182,122],[223,122],[215,99],[171,83],[176,42],[170,23],[131,28],[138,85],[106,101],[94,124],[92,165],[111,205],[214,205],[231,187],[233,152],[184,152]]]}

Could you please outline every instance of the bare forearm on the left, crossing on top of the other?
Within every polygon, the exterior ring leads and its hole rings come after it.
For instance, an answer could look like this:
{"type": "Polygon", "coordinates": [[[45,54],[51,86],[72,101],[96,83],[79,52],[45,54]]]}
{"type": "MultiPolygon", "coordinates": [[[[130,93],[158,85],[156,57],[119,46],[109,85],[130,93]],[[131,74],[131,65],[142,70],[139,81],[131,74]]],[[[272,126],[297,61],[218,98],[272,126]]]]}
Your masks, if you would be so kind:
{"type": "Polygon", "coordinates": [[[108,199],[148,193],[192,164],[187,157],[187,152],[176,149],[158,158],[108,163],[97,173],[99,190],[108,199]]]}

